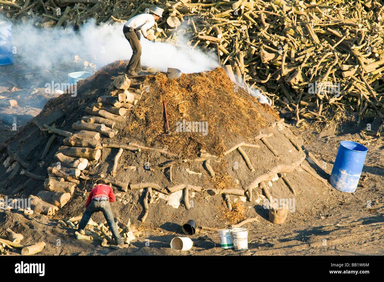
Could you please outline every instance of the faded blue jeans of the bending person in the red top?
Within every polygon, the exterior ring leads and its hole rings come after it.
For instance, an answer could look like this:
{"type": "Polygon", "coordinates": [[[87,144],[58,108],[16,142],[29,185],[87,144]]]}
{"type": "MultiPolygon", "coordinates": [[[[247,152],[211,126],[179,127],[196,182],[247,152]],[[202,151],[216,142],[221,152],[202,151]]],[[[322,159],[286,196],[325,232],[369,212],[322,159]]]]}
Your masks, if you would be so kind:
{"type": "Polygon", "coordinates": [[[94,212],[103,212],[105,219],[107,220],[109,230],[111,230],[112,235],[115,239],[117,245],[124,244],[124,240],[121,238],[119,234],[118,227],[116,226],[115,220],[113,218],[111,205],[108,200],[92,200],[91,204],[88,205],[85,210],[83,217],[80,220],[78,230],[84,229],[91,218],[94,212]]]}

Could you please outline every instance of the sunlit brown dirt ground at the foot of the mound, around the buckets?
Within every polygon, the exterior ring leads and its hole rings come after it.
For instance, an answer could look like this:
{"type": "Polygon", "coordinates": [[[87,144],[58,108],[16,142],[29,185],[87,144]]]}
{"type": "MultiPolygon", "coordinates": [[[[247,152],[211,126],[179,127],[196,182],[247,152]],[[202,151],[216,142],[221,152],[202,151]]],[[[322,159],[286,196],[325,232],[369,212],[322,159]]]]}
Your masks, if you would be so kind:
{"type": "MultiPolygon", "coordinates": [[[[348,129],[353,132],[354,128],[344,125],[346,132],[348,129]]],[[[357,137],[357,133],[335,135],[331,131],[332,128],[315,134],[310,128],[298,128],[295,131],[303,138],[307,137],[306,146],[319,160],[328,164],[325,170],[329,173],[339,141],[357,137]]],[[[63,228],[57,224],[57,220],[50,220],[44,215],[34,217],[3,211],[0,213],[0,222],[4,227],[13,227],[15,231],[28,230],[25,244],[28,241],[47,242],[41,255],[383,255],[384,140],[380,138],[377,142],[365,145],[369,151],[356,192],[348,194],[331,188],[326,202],[305,212],[296,210],[288,213],[282,225],[269,222],[268,211],[260,204],[252,204],[251,209],[256,211],[260,222],[246,225],[248,250],[221,249],[218,232],[200,232],[190,236],[196,240],[207,235],[216,244],[205,241],[186,252],[170,249],[172,238],[185,236],[181,229],[184,222],[177,219],[177,214],[183,211],[176,209],[172,222],[164,222],[156,230],[147,227],[142,237],[131,242],[129,248],[120,250],[103,248],[97,241],[76,240],[72,229],[63,228]],[[56,245],[58,239],[61,240],[61,246],[56,245]]],[[[170,207],[170,211],[172,209],[170,207]]],[[[204,225],[204,222],[196,221],[199,226],[204,225]]],[[[18,252],[13,254],[18,255],[18,252]]]]}

